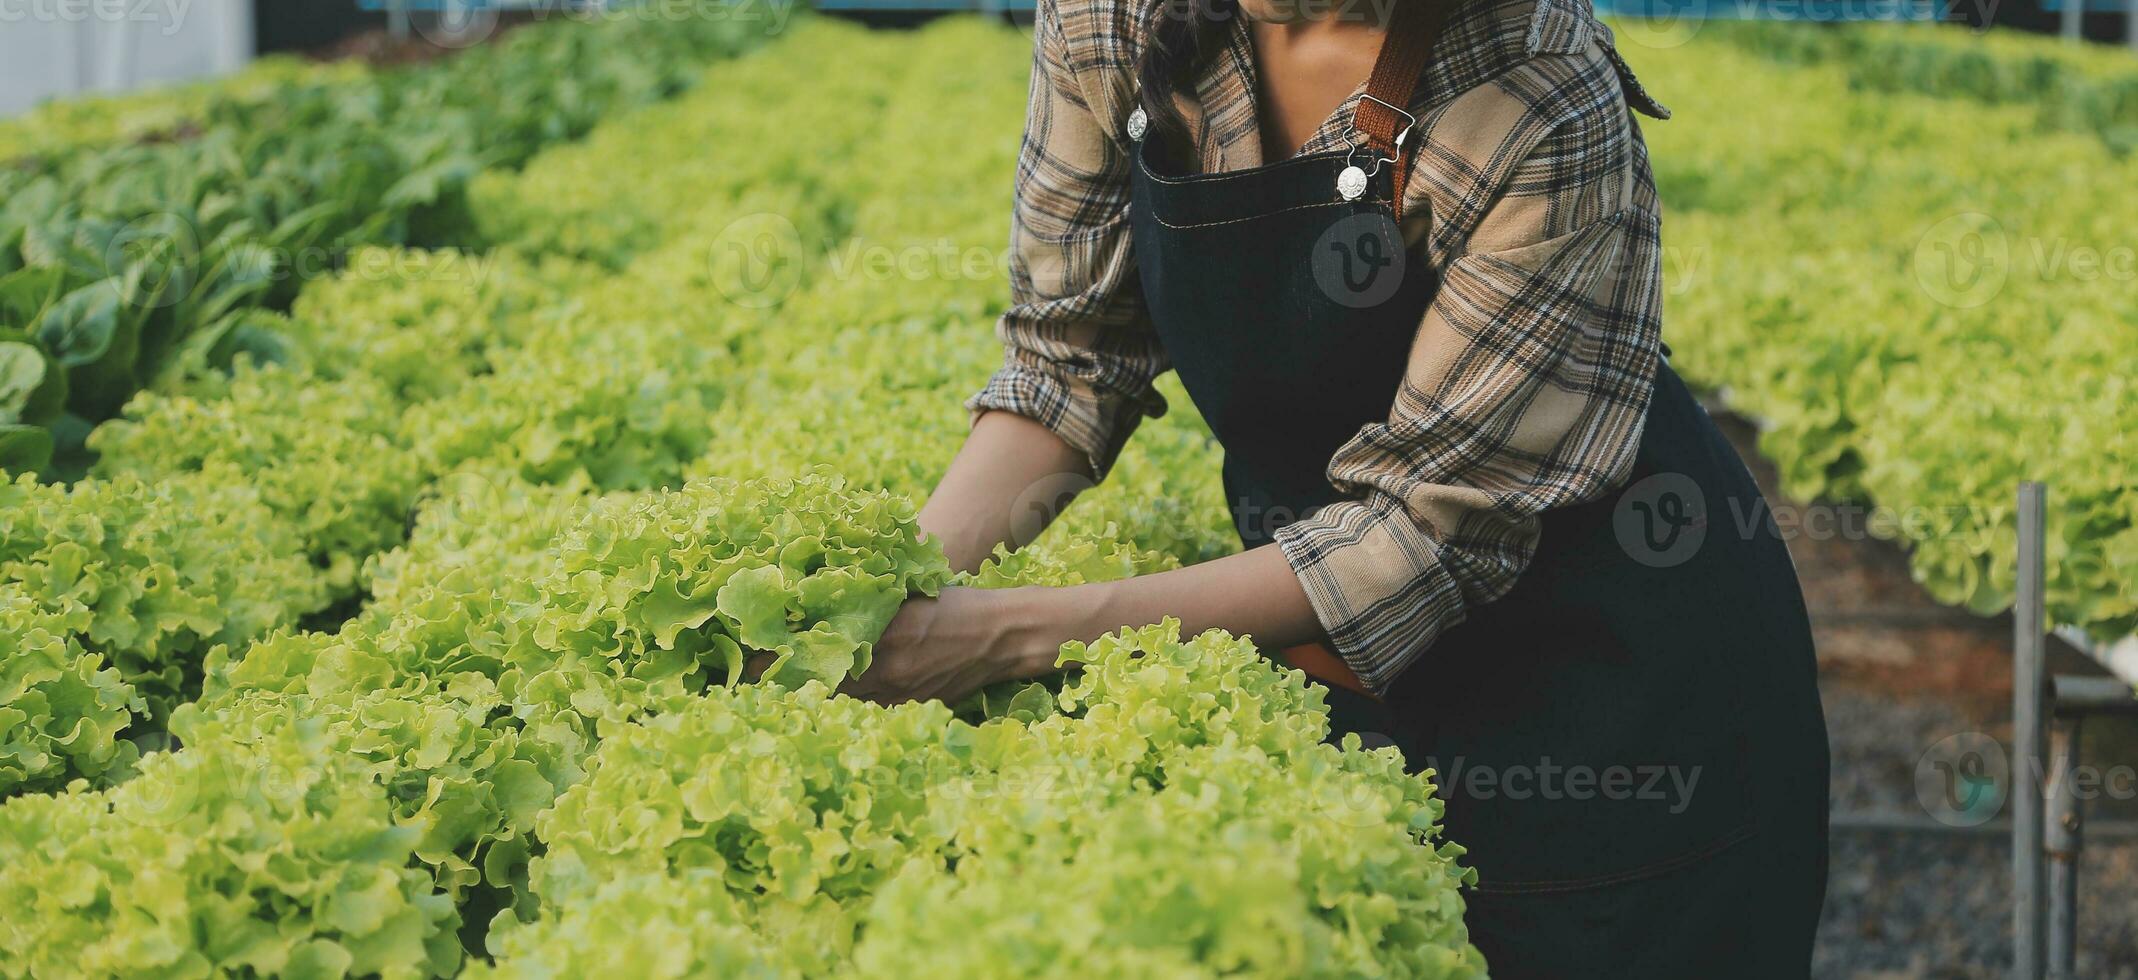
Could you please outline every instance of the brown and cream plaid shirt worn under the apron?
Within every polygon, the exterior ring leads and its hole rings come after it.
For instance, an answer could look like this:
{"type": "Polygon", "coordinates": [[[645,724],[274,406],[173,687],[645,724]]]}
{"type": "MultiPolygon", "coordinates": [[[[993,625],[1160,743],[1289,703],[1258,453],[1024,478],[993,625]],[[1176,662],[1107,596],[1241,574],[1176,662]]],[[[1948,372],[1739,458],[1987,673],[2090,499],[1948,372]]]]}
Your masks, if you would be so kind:
{"type": "MultiPolygon", "coordinates": [[[[1150,2],[1039,4],[1007,357],[969,402],[1037,419],[1099,475],[1165,411],[1127,218],[1125,120],[1150,2]]],[[[1236,17],[1180,98],[1206,171],[1261,165],[1253,73],[1236,17]]],[[[1300,152],[1347,146],[1355,101],[1300,152]]],[[[1349,499],[1276,535],[1375,691],[1514,586],[1541,511],[1616,490],[1633,464],[1661,347],[1661,246],[1629,103],[1668,118],[1586,0],[1462,0],[1435,47],[1411,105],[1422,143],[1403,233],[1441,287],[1388,422],[1328,464],[1349,499]]]]}

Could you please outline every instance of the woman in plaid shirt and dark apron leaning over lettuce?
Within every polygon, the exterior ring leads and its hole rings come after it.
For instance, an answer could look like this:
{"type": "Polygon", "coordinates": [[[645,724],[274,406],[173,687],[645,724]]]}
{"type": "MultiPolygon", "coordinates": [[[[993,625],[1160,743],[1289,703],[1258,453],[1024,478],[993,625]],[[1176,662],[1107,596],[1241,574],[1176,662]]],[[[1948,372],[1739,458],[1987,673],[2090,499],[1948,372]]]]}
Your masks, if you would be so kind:
{"type": "Polygon", "coordinates": [[[962,569],[1026,543],[1011,503],[1103,477],[1172,366],[1249,548],[911,601],[851,691],[1253,633],[1439,770],[1497,976],[1804,976],[1811,636],[1666,362],[1666,113],[1586,0],[1041,0],[1031,92],[1007,362],[919,522],[962,569]]]}

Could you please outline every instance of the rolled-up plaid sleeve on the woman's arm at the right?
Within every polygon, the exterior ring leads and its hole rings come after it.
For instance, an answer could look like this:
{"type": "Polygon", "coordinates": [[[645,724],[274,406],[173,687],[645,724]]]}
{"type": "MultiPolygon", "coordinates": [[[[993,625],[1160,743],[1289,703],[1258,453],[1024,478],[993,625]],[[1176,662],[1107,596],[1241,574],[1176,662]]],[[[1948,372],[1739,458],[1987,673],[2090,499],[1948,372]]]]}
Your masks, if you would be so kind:
{"type": "Polygon", "coordinates": [[[1492,98],[1520,94],[1479,96],[1477,113],[1437,126],[1454,146],[1422,150],[1486,160],[1527,143],[1497,193],[1430,188],[1435,212],[1490,203],[1439,267],[1388,422],[1330,460],[1349,499],[1276,533],[1332,646],[1375,691],[1514,586],[1544,511],[1608,494],[1640,447],[1661,344],[1646,152],[1614,90],[1556,122],[1492,126],[1514,116],[1492,98]],[[1492,141],[1471,146],[1477,133],[1492,141]]]}

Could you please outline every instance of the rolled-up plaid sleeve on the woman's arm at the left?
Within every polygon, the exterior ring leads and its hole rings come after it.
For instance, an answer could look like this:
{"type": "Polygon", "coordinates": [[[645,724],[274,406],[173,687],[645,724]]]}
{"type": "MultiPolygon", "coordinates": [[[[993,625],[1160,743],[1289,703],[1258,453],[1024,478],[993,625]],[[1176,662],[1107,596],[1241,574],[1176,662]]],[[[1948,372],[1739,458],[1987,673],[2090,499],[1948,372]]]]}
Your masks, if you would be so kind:
{"type": "Polygon", "coordinates": [[[966,400],[975,417],[1011,411],[1048,426],[1090,460],[1095,477],[1144,417],[1165,411],[1150,387],[1165,353],[1135,289],[1129,244],[1129,148],[1118,135],[1131,107],[1118,83],[1125,73],[1095,71],[1095,58],[1071,58],[1069,45],[1069,32],[1116,32],[1084,24],[1107,11],[1078,4],[1065,24],[1052,0],[1039,4],[1011,210],[1011,302],[996,327],[1005,357],[966,400]]]}

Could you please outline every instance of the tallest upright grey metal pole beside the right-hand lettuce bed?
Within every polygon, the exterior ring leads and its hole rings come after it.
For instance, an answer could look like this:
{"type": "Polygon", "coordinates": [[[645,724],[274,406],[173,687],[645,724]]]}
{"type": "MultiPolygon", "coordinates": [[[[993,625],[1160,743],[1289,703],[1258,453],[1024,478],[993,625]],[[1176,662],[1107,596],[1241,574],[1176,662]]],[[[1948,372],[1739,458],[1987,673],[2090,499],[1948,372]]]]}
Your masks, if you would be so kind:
{"type": "Polygon", "coordinates": [[[2046,965],[2040,783],[2046,499],[2048,488],[2038,481],[2018,486],[2018,597],[2012,603],[2012,976],[2020,980],[2040,980],[2046,965]]]}

